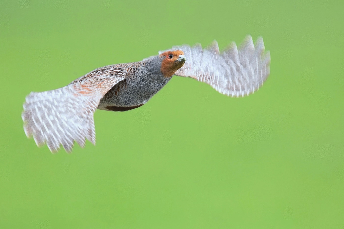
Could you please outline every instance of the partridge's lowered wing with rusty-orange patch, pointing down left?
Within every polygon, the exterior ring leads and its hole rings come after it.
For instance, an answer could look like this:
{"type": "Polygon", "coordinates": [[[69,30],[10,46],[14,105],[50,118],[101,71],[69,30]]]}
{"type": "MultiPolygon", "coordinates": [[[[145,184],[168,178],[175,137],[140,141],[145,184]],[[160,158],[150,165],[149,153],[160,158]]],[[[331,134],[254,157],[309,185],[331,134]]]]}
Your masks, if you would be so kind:
{"type": "Polygon", "coordinates": [[[95,144],[93,113],[99,100],[119,81],[124,79],[123,68],[98,68],[71,84],[51,91],[31,92],[23,105],[22,119],[28,138],[37,146],[44,143],[51,152],[62,144],[71,152],[74,141],[85,146],[85,138],[95,144]]]}

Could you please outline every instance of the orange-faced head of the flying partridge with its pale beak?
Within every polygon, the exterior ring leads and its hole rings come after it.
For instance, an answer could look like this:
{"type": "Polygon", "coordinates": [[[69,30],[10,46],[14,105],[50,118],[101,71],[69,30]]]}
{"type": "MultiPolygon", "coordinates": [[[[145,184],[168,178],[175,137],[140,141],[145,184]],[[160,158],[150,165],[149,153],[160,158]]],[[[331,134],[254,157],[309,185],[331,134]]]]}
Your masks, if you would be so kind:
{"type": "Polygon", "coordinates": [[[186,61],[184,52],[182,50],[165,51],[159,56],[162,58],[160,70],[165,77],[173,76],[174,73],[181,68],[186,61]]]}

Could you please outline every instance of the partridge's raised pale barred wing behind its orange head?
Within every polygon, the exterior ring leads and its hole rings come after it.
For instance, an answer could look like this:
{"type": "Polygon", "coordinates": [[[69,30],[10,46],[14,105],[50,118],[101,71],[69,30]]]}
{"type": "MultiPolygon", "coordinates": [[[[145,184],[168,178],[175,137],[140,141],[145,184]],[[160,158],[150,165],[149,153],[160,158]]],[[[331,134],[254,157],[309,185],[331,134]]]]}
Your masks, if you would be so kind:
{"type": "Polygon", "coordinates": [[[227,96],[249,95],[262,86],[270,74],[270,53],[265,52],[262,37],[256,45],[247,35],[237,48],[233,42],[225,51],[219,52],[217,42],[203,49],[200,44],[173,46],[184,52],[186,62],[175,75],[192,77],[205,82],[227,96]]]}

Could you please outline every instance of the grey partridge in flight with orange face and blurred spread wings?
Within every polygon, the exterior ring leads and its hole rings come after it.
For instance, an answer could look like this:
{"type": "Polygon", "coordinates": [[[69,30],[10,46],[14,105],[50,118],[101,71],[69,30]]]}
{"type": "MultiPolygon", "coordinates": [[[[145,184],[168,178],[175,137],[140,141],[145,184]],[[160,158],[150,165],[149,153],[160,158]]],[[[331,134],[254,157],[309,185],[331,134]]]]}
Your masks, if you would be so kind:
{"type": "Polygon", "coordinates": [[[219,51],[214,41],[208,48],[173,46],[140,62],[97,68],[65,87],[31,92],[25,98],[22,119],[26,137],[37,146],[47,144],[54,153],[61,145],[71,152],[76,141],[95,144],[93,114],[96,109],[127,111],[144,105],[173,75],[191,77],[220,93],[243,97],[258,90],[270,74],[270,53],[262,37],[255,45],[247,35],[237,48],[232,42],[219,51]]]}

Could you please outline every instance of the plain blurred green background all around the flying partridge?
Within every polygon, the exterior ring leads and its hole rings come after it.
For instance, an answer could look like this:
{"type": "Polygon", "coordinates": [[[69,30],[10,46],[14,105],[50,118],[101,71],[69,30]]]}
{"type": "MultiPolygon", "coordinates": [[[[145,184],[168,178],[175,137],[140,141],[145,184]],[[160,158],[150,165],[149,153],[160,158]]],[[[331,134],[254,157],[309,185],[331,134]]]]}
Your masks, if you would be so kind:
{"type": "Polygon", "coordinates": [[[1,1],[0,228],[344,228],[343,1],[1,1]],[[271,75],[231,98],[173,77],[97,111],[96,146],[26,139],[31,91],[172,45],[263,36],[271,75]]]}

